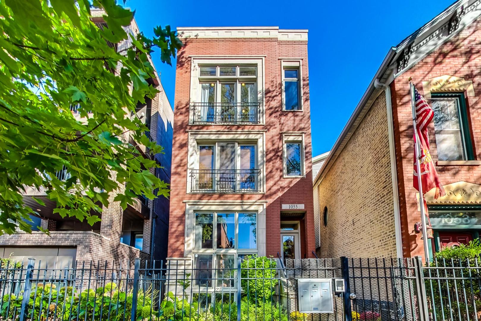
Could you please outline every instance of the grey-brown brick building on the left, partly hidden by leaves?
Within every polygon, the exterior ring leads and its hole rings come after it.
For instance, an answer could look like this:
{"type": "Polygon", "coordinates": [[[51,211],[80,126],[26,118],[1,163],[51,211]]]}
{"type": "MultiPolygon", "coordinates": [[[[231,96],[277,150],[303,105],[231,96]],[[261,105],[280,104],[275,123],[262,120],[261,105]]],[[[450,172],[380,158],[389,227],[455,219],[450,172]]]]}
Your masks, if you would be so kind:
{"type": "MultiPolygon", "coordinates": [[[[102,25],[103,11],[92,9],[91,12],[95,17],[92,20],[97,25],[102,25]]],[[[131,35],[139,33],[135,20],[125,30],[131,35]]],[[[130,41],[125,40],[117,45],[117,49],[128,46],[130,41]]],[[[174,113],[160,78],[156,72],[154,74],[156,77],[149,81],[160,92],[153,99],[146,98],[145,104],[139,104],[136,116],[150,128],[151,139],[164,147],[165,154],[149,154],[146,147],[134,141],[128,132],[122,140],[136,146],[145,157],[154,157],[164,168],[151,168],[152,173],[170,183],[174,113]]],[[[76,107],[72,108],[72,112],[74,116],[80,117],[76,107]]],[[[68,169],[65,168],[57,177],[64,180],[68,175],[68,169]]],[[[52,212],[55,203],[46,197],[45,190],[27,188],[24,193],[25,203],[39,213],[39,216],[32,216],[34,231],[31,234],[19,232],[0,236],[0,257],[8,257],[13,253],[17,259],[35,257],[37,261],[42,260],[42,266],[48,264],[53,267],[55,264],[62,268],[73,260],[125,262],[136,257],[165,259],[169,200],[161,196],[155,199],[154,205],[152,200],[139,197],[135,205],[128,205],[124,211],[119,202],[113,201],[115,195],[115,192],[109,195],[109,207],[103,207],[99,214],[101,221],[90,226],[76,218],[61,218],[52,212]],[[42,199],[45,206],[38,205],[32,196],[42,199]],[[47,228],[51,235],[39,232],[36,228],[38,225],[47,228]]]]}

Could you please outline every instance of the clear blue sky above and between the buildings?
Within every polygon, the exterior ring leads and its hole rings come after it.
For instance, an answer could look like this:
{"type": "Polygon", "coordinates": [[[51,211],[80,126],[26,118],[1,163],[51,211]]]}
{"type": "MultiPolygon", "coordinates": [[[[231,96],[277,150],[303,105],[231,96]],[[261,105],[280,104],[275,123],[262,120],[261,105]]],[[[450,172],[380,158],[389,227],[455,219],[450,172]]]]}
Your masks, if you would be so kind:
{"type": "MultiPolygon", "coordinates": [[[[127,0],[147,36],[157,25],[279,26],[309,29],[309,82],[313,156],[329,151],[389,48],[448,7],[453,0],[371,1],[161,1],[127,0]]],[[[175,63],[152,55],[169,101],[175,63]]],[[[175,106],[174,106],[175,107],[175,106]]]]}

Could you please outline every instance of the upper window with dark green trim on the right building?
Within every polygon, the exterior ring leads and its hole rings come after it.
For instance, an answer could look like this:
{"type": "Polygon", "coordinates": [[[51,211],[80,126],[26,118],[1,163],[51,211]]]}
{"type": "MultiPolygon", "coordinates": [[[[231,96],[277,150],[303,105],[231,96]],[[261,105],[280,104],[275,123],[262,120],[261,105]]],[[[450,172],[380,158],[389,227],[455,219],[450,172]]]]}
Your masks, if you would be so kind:
{"type": "Polygon", "coordinates": [[[438,160],[474,160],[464,93],[432,93],[438,160]]]}

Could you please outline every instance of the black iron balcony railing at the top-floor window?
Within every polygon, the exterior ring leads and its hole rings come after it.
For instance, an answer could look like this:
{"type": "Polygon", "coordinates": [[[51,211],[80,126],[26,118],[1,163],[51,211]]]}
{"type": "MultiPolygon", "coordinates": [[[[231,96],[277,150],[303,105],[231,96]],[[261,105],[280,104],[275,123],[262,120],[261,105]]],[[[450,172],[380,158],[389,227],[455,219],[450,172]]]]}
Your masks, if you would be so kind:
{"type": "Polygon", "coordinates": [[[259,124],[260,103],[194,103],[194,124],[259,124]]]}

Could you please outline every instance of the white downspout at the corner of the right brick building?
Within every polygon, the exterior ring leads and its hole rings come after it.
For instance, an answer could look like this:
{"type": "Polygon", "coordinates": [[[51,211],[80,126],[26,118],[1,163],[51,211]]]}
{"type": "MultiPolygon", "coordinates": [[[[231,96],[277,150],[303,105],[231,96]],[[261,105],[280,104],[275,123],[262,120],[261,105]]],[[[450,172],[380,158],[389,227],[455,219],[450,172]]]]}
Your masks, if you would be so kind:
{"type": "Polygon", "coordinates": [[[396,254],[397,257],[403,257],[403,241],[401,237],[401,213],[399,210],[399,193],[397,186],[397,169],[396,169],[396,150],[394,147],[394,124],[392,117],[391,104],[391,88],[389,85],[381,84],[379,78],[374,81],[376,89],[384,90],[386,96],[386,112],[388,121],[389,135],[389,158],[391,160],[391,181],[392,181],[392,203],[394,207],[394,230],[396,234],[396,254]]]}

